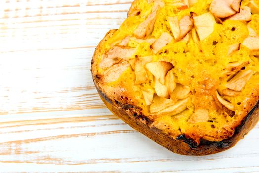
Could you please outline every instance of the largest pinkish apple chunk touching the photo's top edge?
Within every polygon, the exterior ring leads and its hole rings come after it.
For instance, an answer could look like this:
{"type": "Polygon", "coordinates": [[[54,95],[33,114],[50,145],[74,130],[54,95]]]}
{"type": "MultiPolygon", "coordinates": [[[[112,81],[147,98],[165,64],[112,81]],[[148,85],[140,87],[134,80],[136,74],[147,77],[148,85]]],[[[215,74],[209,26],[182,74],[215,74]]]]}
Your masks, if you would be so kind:
{"type": "MultiPolygon", "coordinates": [[[[230,17],[237,13],[231,5],[233,0],[212,0],[210,11],[218,18],[230,17]]],[[[234,5],[233,5],[234,6],[234,5]]]]}

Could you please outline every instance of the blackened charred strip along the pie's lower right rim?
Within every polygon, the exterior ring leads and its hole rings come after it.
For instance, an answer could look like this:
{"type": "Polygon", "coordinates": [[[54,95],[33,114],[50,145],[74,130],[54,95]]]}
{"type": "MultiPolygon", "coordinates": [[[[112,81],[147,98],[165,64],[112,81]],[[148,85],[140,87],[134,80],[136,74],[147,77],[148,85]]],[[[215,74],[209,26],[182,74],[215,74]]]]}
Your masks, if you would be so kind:
{"type": "Polygon", "coordinates": [[[251,109],[251,111],[248,113],[248,115],[242,120],[241,124],[236,127],[234,135],[232,137],[228,138],[228,139],[222,140],[220,142],[213,142],[213,141],[201,139],[199,145],[197,145],[197,143],[195,141],[193,141],[192,139],[186,138],[186,136],[184,134],[178,136],[176,139],[182,140],[183,142],[187,143],[190,146],[191,149],[195,149],[197,147],[201,147],[201,146],[204,146],[204,145],[215,145],[218,148],[229,148],[232,145],[233,139],[237,135],[239,135],[241,130],[244,129],[244,126],[245,126],[246,122],[251,118],[251,116],[253,115],[253,112],[258,108],[259,108],[259,101],[251,109]]]}

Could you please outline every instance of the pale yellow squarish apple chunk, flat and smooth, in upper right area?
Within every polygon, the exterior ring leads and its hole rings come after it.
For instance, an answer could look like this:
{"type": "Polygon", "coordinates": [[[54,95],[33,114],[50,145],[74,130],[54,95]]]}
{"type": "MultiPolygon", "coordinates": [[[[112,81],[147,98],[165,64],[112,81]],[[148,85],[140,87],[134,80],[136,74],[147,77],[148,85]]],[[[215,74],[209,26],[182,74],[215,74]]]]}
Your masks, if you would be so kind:
{"type": "Polygon", "coordinates": [[[193,16],[193,19],[195,29],[201,41],[207,38],[213,32],[214,24],[216,23],[216,21],[210,13],[193,16]]]}

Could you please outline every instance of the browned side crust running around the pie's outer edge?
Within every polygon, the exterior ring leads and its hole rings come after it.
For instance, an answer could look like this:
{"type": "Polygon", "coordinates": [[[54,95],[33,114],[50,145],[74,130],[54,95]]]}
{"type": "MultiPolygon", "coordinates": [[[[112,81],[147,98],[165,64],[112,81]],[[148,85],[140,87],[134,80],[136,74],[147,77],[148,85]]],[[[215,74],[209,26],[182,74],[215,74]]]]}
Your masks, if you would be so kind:
{"type": "Polygon", "coordinates": [[[107,106],[115,115],[117,115],[124,122],[129,124],[135,130],[138,130],[145,136],[149,137],[158,144],[166,147],[170,151],[182,155],[209,155],[227,150],[233,147],[240,139],[242,139],[258,122],[259,120],[259,101],[256,102],[253,109],[243,119],[241,124],[235,128],[235,133],[232,137],[220,142],[212,142],[202,139],[200,144],[197,144],[183,135],[173,139],[169,134],[164,133],[155,127],[152,127],[152,121],[141,114],[141,111],[132,106],[120,103],[116,100],[111,100],[101,89],[96,76],[95,60],[100,53],[100,45],[104,43],[116,30],[110,30],[104,39],[97,46],[91,63],[91,72],[95,87],[107,106]]]}

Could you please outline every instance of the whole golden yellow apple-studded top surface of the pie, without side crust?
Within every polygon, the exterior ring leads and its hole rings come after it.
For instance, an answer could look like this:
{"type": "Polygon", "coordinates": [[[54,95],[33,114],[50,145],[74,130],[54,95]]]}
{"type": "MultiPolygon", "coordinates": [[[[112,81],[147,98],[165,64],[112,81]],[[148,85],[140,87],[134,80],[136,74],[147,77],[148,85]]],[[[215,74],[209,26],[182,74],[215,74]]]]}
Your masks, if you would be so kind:
{"type": "Polygon", "coordinates": [[[135,0],[98,51],[109,99],[174,139],[222,141],[259,99],[259,1],[135,0]]]}

